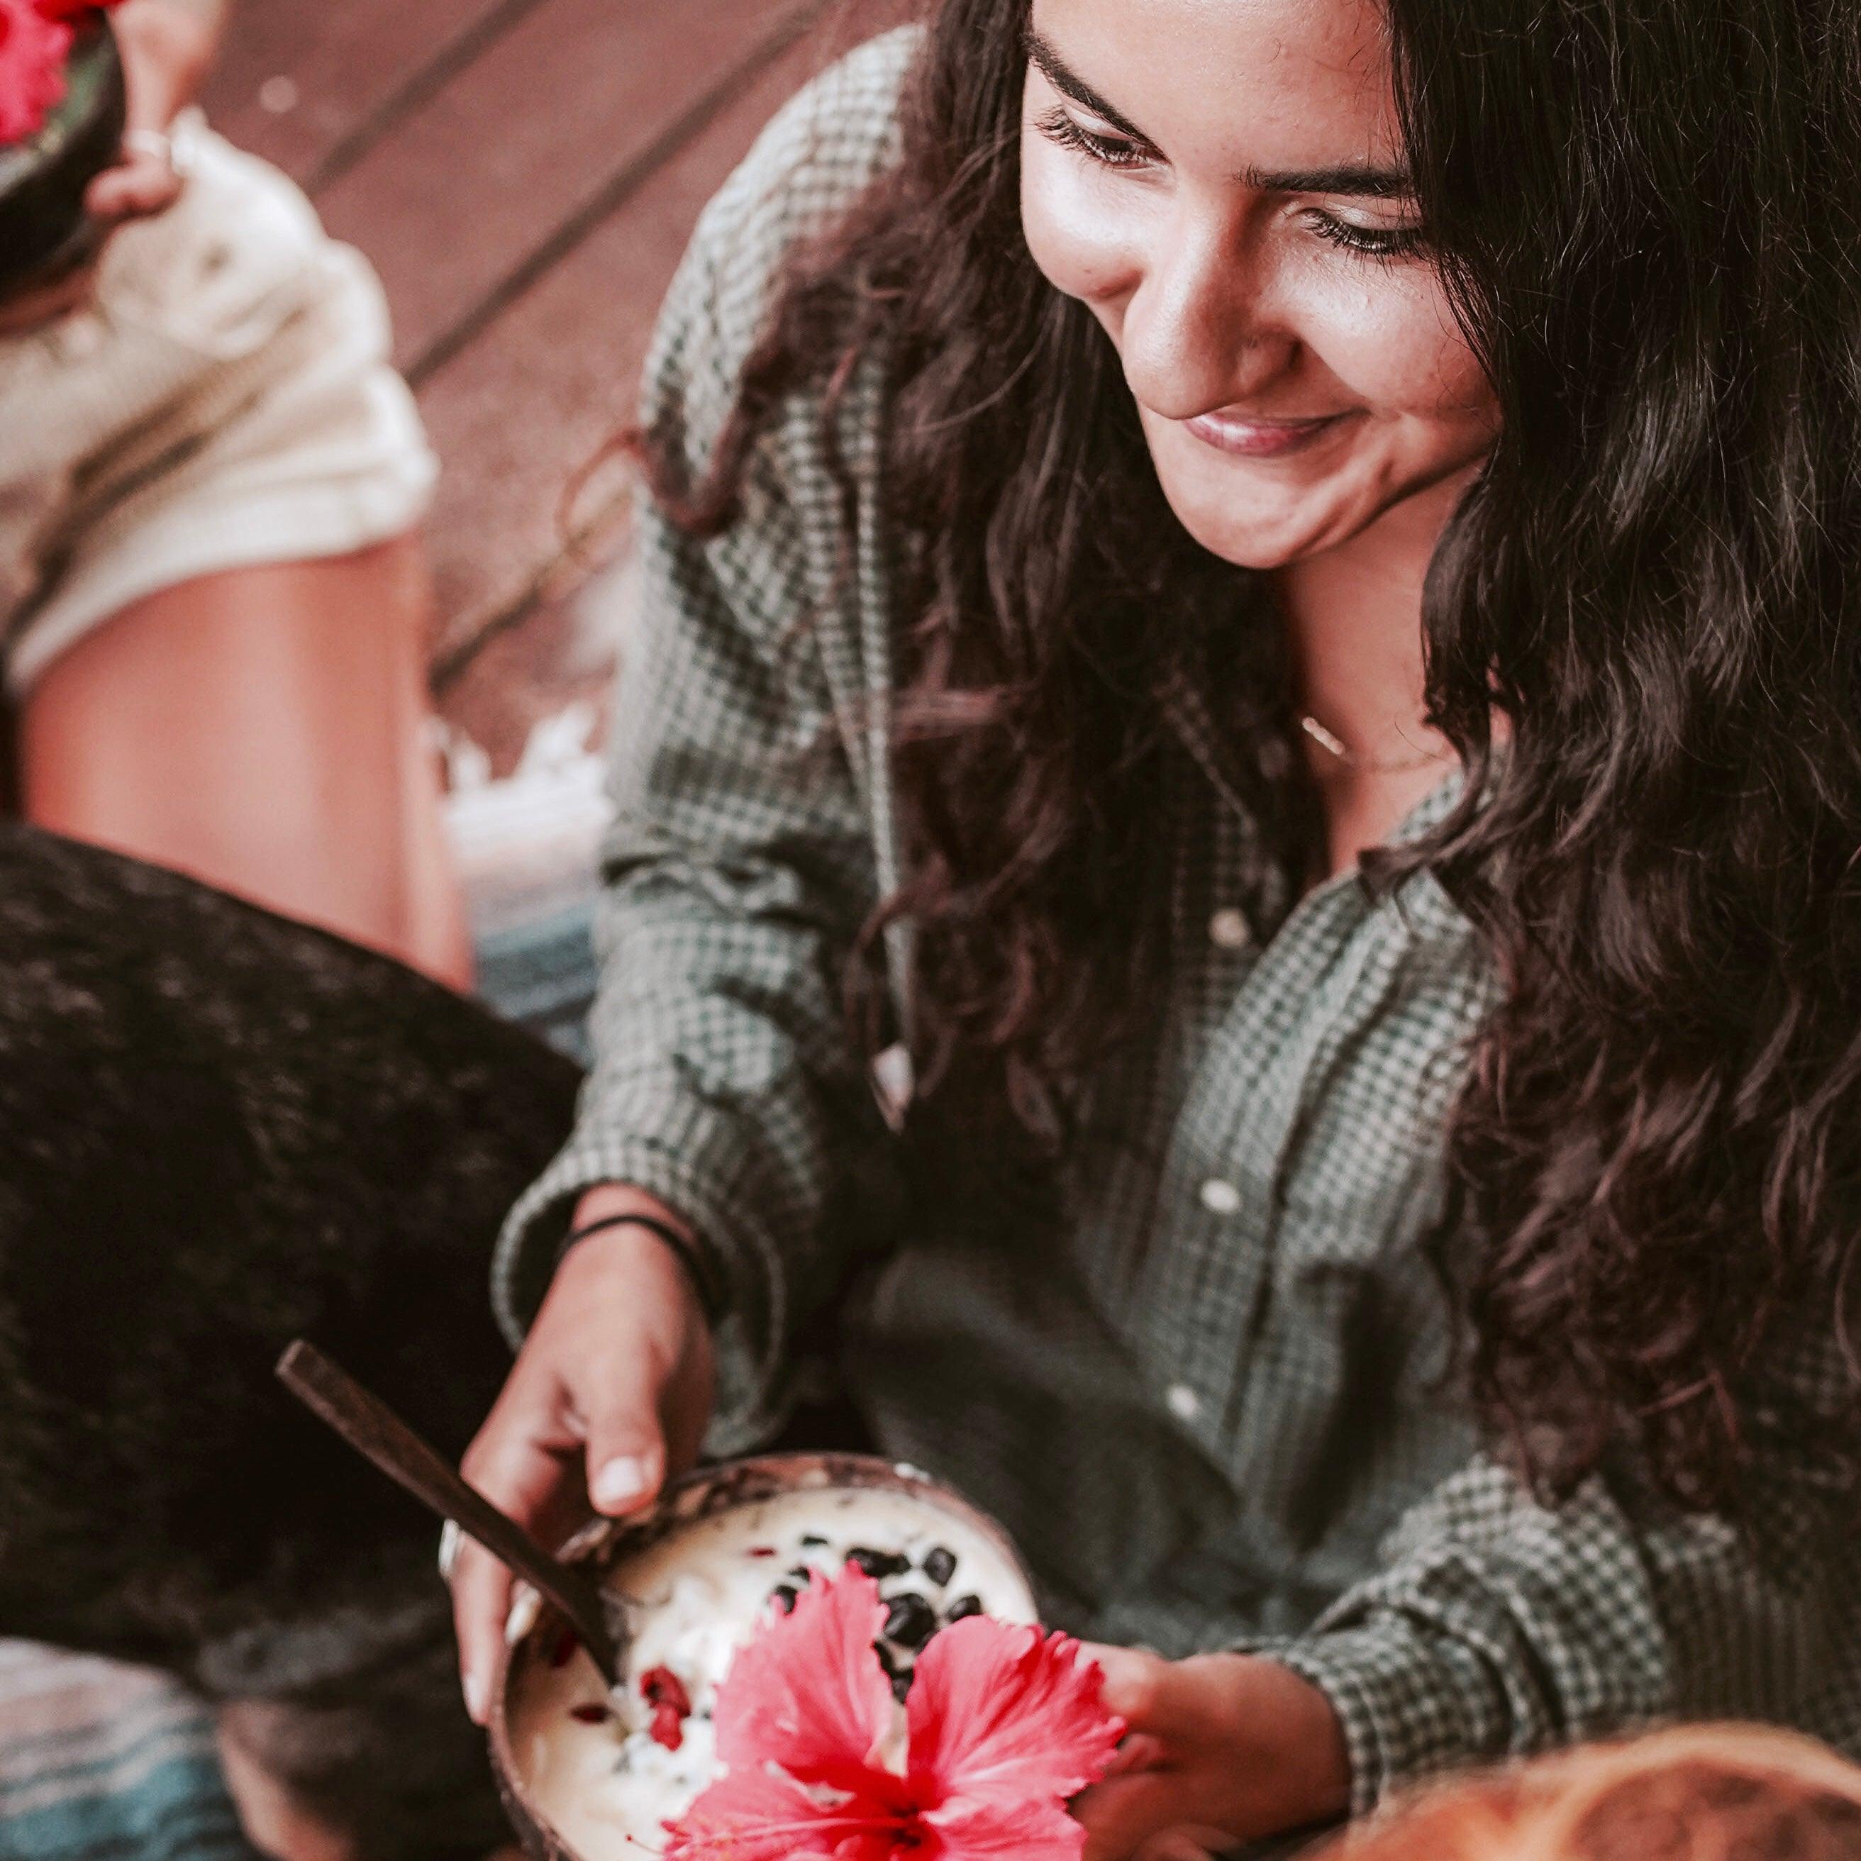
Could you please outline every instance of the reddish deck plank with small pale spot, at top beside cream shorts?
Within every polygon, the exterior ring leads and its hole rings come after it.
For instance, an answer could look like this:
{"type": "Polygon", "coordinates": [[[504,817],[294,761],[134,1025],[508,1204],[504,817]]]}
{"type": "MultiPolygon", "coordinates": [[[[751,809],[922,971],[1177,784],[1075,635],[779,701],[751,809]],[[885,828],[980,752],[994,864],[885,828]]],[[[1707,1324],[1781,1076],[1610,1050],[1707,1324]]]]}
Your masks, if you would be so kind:
{"type": "Polygon", "coordinates": [[[443,78],[538,0],[238,0],[207,114],[316,188],[409,87],[443,78]]]}

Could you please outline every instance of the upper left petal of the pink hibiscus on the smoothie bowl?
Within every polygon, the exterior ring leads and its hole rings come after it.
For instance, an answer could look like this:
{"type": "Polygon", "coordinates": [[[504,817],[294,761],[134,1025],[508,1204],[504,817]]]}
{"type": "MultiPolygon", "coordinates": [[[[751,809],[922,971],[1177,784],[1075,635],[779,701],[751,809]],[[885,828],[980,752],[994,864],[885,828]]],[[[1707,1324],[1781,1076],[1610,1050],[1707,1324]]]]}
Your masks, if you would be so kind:
{"type": "Polygon", "coordinates": [[[891,1686],[873,1653],[884,1621],[864,1571],[810,1578],[731,1662],[716,1694],[718,1759],[733,1772],[774,1762],[802,1785],[860,1788],[891,1725],[891,1686]]]}

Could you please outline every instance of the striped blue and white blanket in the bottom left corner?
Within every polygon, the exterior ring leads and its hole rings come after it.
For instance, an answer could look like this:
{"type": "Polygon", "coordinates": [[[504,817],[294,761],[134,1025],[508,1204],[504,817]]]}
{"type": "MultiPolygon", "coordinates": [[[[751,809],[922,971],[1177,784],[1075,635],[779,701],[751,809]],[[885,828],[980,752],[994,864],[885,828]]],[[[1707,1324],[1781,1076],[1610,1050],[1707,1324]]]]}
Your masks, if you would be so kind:
{"type": "Polygon", "coordinates": [[[0,1861],[253,1861],[171,1680],[0,1641],[0,1861]]]}

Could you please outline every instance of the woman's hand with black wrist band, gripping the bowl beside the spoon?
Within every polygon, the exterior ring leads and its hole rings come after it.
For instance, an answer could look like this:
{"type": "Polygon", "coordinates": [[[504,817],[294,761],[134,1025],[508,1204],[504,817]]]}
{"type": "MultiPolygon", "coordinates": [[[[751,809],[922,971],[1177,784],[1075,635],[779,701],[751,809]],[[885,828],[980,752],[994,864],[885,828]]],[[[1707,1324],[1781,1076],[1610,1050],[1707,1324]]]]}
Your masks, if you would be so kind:
{"type": "MultiPolygon", "coordinates": [[[[661,1202],[609,1184],[577,1226],[636,1212],[683,1230],[661,1202]]],[[[648,1506],[698,1459],[711,1420],[711,1331],[677,1256],[646,1228],[577,1241],[460,1472],[493,1506],[556,1545],[594,1511],[648,1506]]],[[[482,1725],[510,1613],[510,1573],[469,1539],[452,1565],[465,1710],[482,1725]]]]}

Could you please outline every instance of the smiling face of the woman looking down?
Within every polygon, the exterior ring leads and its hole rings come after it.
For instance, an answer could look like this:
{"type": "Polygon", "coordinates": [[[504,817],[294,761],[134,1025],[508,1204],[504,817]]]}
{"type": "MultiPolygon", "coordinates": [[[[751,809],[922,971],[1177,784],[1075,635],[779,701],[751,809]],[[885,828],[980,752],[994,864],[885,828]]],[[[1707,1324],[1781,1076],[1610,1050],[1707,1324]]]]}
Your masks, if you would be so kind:
{"type": "Polygon", "coordinates": [[[1496,411],[1416,234],[1368,0],[1033,0],[1022,221],[1206,549],[1273,569],[1470,475],[1496,411]]]}

